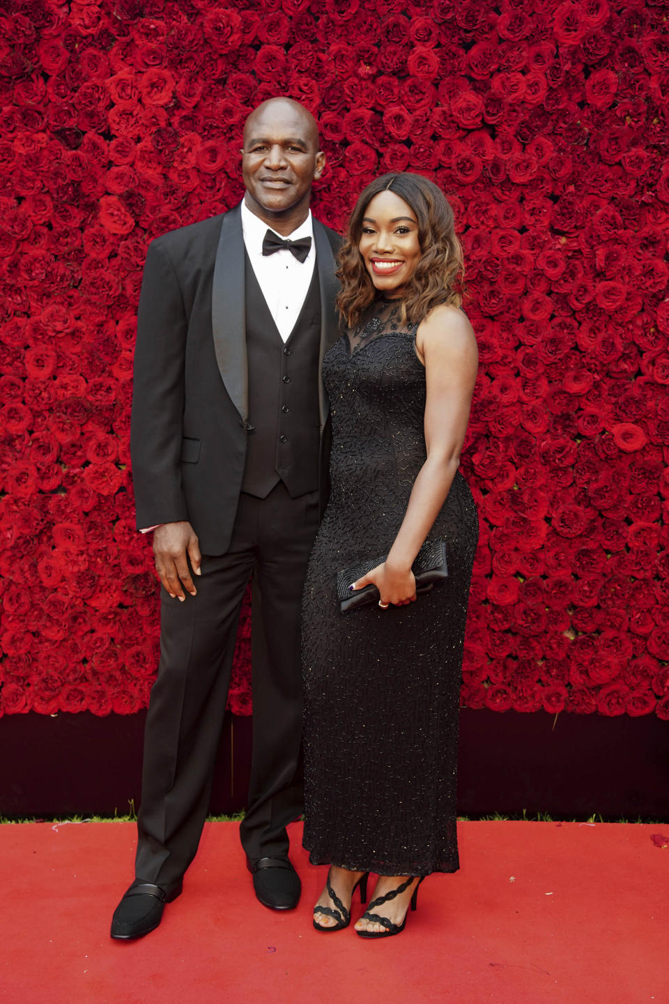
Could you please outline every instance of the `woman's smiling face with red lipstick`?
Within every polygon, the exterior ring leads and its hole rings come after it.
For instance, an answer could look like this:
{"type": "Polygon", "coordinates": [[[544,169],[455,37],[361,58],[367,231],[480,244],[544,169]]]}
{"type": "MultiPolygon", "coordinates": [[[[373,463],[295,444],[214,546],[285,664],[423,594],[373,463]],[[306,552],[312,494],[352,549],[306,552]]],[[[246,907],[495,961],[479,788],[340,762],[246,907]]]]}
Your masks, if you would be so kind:
{"type": "Polygon", "coordinates": [[[422,252],[415,213],[394,192],[369,201],[358,250],[376,289],[401,296],[422,252]]]}

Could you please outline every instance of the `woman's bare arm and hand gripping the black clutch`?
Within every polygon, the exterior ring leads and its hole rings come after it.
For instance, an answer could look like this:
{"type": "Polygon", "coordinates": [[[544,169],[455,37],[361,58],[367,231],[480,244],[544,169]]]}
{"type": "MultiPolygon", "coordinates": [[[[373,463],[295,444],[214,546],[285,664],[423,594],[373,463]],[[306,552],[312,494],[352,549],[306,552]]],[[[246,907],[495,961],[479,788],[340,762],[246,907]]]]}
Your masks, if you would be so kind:
{"type": "Polygon", "coordinates": [[[419,325],[416,351],[425,366],[425,446],[420,468],[387,560],[355,583],[373,582],[382,603],[415,599],[411,565],[450,490],[459,465],[478,353],[471,324],[457,307],[441,306],[419,325]]]}

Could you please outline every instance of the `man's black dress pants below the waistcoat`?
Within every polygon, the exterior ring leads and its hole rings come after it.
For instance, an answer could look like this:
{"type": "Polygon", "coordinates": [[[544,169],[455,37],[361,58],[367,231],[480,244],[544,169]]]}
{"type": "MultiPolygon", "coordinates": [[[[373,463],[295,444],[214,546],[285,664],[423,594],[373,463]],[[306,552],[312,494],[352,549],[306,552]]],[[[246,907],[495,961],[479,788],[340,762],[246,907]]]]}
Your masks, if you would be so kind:
{"type": "Polygon", "coordinates": [[[242,494],[226,554],[203,556],[197,596],[160,589],[160,662],[144,730],[135,873],[169,886],[193,860],[209,808],[240,609],[254,576],[253,753],[241,825],[249,857],[284,854],[303,808],[300,610],[318,493],[242,494]]]}

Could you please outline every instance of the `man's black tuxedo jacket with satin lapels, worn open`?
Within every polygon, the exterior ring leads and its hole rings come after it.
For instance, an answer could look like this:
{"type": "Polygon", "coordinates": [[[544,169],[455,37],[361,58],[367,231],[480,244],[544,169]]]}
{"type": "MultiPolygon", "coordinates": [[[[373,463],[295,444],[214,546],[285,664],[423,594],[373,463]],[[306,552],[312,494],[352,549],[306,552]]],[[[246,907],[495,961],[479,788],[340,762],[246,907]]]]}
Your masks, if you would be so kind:
{"type": "MultiPolygon", "coordinates": [[[[314,220],[320,359],[339,336],[334,256],[341,238],[314,220]]],[[[130,451],[137,528],[190,520],[204,554],[224,554],[247,450],[245,247],[240,206],[152,241],[134,353],[130,451]]],[[[329,452],[319,366],[321,498],[329,452]]]]}

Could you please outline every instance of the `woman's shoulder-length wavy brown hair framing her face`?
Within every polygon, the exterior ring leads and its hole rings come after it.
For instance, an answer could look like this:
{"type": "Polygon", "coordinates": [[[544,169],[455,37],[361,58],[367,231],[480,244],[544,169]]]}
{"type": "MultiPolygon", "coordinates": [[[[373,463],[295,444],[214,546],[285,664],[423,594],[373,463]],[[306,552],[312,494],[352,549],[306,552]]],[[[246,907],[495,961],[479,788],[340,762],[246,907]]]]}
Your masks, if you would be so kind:
{"type": "Polygon", "coordinates": [[[417,324],[433,307],[441,303],[459,306],[462,298],[462,248],[455,236],[453,211],[448,200],[436,185],[421,175],[408,172],[381,175],[358,199],[339,251],[337,277],[341,281],[341,291],[337,309],[349,327],[355,327],[376,295],[358,245],[367,206],[375,195],[387,190],[398,195],[413,210],[422,252],[402,297],[402,321],[417,324]]]}

